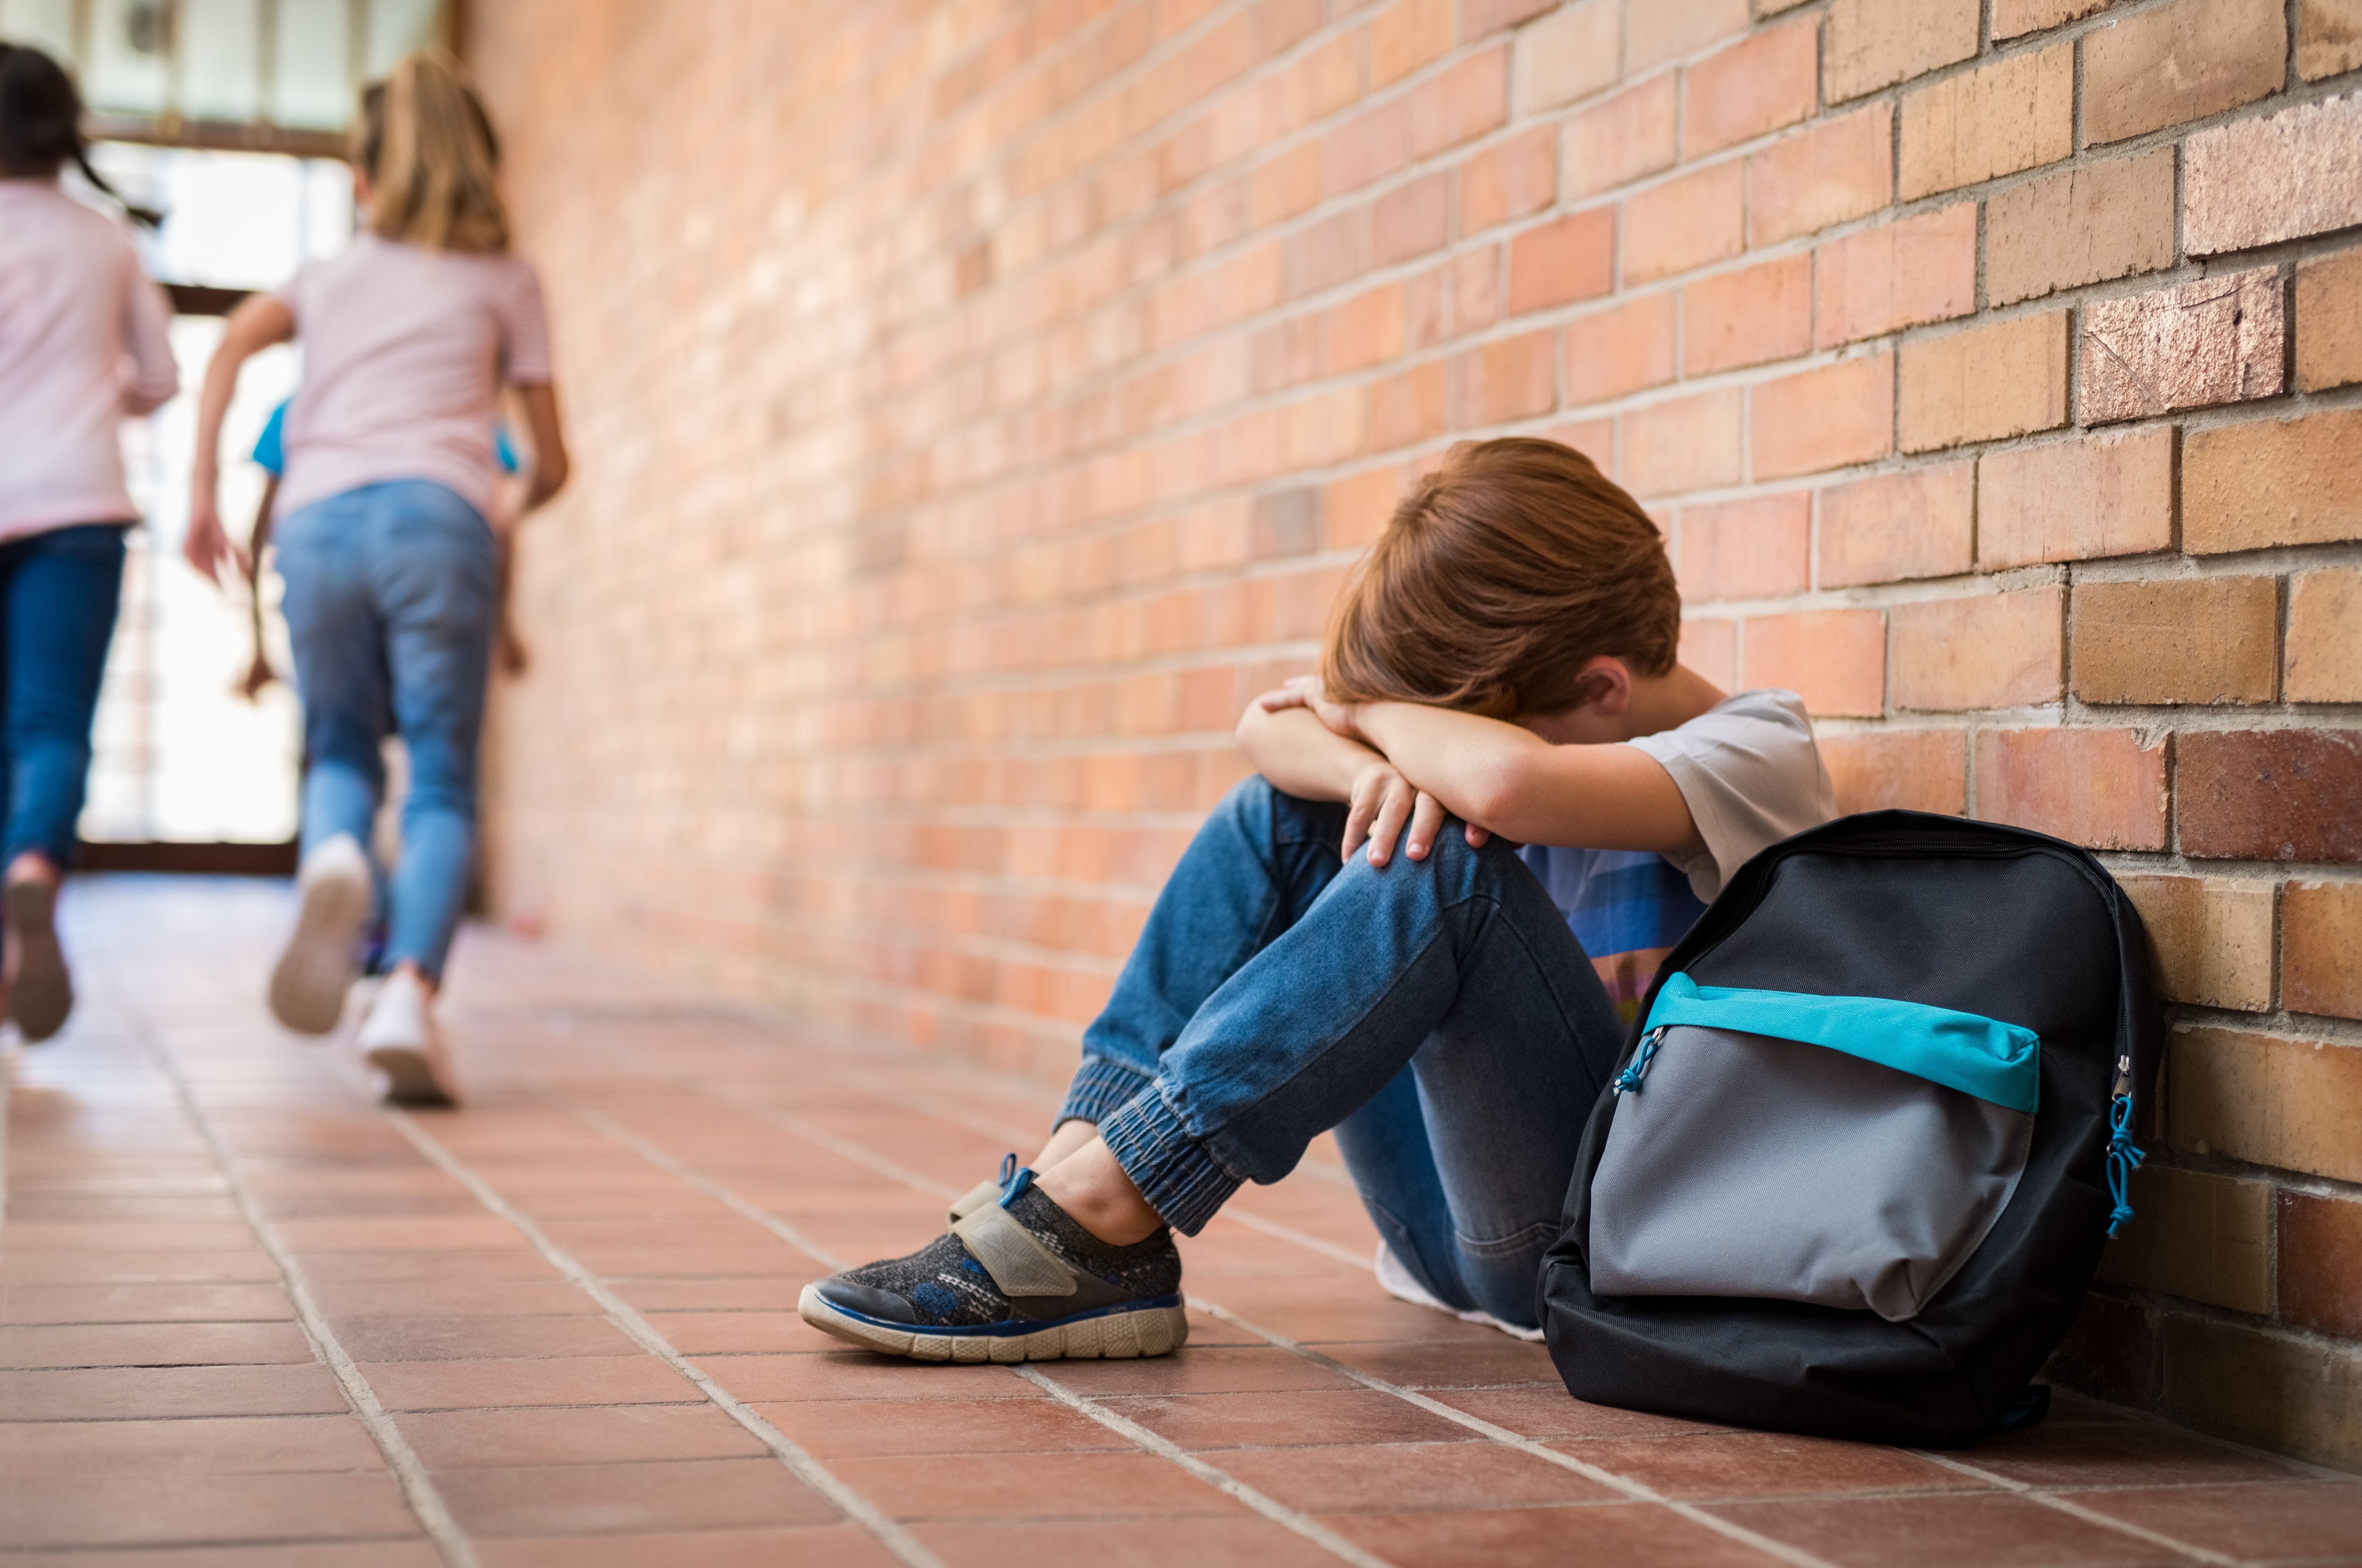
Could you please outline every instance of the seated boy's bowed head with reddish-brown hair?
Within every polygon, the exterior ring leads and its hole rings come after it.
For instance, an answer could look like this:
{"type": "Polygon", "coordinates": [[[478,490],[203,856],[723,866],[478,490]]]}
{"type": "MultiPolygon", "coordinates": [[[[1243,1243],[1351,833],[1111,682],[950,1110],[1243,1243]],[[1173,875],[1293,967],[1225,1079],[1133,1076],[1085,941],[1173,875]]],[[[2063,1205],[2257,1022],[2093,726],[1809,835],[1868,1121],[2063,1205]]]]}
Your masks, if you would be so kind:
{"type": "Polygon", "coordinates": [[[1335,701],[1417,701],[1606,739],[1675,668],[1682,595],[1649,512],[1559,442],[1455,446],[1346,586],[1320,652],[1335,701]],[[1549,723],[1549,720],[1566,723],[1549,723]]]}

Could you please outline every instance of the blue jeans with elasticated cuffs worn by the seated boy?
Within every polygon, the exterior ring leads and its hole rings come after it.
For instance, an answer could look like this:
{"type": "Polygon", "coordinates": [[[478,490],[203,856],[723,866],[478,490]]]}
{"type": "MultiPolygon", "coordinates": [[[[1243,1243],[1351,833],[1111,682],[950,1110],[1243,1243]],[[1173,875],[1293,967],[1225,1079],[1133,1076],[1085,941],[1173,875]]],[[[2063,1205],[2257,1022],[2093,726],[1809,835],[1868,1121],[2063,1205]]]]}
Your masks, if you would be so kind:
{"type": "Polygon", "coordinates": [[[1233,789],[1082,1037],[1061,1119],[1195,1235],[1337,1129],[1394,1254],[1441,1301],[1538,1322],[1583,1119],[1623,1046],[1542,893],[1457,824],[1429,857],[1339,864],[1344,805],[1233,789]]]}

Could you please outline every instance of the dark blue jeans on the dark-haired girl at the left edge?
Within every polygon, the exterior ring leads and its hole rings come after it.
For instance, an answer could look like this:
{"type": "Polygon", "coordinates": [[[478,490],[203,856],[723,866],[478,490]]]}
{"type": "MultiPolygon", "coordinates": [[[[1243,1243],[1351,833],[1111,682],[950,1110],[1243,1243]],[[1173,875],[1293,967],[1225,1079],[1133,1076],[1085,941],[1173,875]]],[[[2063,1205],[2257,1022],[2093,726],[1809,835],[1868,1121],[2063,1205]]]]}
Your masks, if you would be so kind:
{"type": "Polygon", "coordinates": [[[0,545],[0,723],[7,831],[0,864],[40,850],[73,864],[90,786],[90,718],[123,602],[120,522],[47,529],[0,545]]]}

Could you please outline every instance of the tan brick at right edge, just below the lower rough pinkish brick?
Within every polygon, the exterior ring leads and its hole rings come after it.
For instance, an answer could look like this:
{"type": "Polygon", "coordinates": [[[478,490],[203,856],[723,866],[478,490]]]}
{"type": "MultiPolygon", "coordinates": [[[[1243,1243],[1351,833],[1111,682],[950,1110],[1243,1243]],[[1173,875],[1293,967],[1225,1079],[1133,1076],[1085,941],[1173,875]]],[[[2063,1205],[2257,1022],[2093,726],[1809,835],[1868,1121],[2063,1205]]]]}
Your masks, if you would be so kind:
{"type": "Polygon", "coordinates": [[[2194,555],[2362,538],[2362,409],[2192,430],[2182,548],[2194,555]]]}

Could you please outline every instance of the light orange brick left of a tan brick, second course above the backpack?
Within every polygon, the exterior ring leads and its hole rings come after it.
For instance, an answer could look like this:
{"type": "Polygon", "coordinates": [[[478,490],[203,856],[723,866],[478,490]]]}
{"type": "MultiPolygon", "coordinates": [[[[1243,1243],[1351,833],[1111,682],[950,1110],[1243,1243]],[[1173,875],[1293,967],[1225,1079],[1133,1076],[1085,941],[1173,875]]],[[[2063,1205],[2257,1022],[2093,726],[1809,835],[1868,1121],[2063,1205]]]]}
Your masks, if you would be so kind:
{"type": "Polygon", "coordinates": [[[1894,605],[1887,612],[1894,708],[1958,713],[2057,701],[2064,597],[2050,586],[1894,605]]]}

